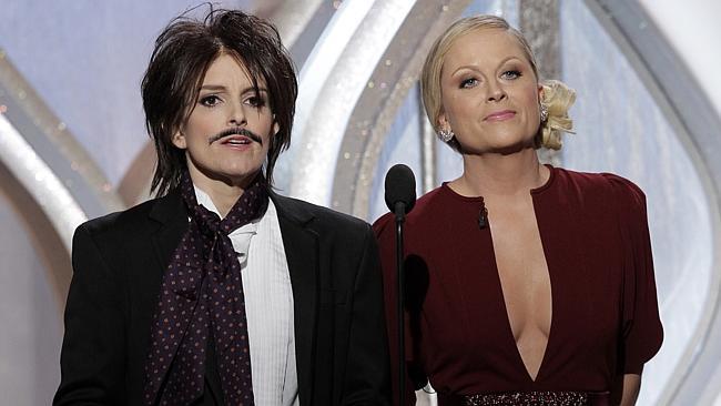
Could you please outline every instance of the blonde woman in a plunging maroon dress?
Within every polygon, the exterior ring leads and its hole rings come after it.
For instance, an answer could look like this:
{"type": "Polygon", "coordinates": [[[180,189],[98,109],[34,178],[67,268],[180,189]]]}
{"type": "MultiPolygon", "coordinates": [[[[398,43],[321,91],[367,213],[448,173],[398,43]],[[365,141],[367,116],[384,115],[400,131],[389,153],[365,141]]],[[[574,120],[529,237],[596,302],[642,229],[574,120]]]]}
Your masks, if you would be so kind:
{"type": "MultiPolygon", "coordinates": [[[[528,42],[501,18],[453,24],[422,87],[464,172],[406,223],[409,404],[430,382],[440,406],[633,405],[663,336],[643,192],[539,163],[536,150],[571,130],[575,95],[539,82],[528,42]]],[[[374,229],[397,353],[393,217],[374,229]]]]}

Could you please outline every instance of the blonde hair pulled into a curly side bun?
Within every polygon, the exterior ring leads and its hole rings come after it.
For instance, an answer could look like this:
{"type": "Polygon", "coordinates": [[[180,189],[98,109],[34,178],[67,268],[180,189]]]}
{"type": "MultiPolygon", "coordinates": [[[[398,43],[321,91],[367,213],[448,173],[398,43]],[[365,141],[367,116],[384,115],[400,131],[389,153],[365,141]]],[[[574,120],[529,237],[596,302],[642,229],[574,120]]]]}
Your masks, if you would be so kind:
{"type": "MultiPolygon", "coordinates": [[[[423,104],[426,109],[426,115],[438,133],[440,131],[438,118],[441,112],[440,94],[440,71],[443,70],[444,59],[453,47],[454,42],[468,32],[481,29],[500,29],[511,34],[518,43],[530,63],[530,67],[538,80],[538,69],[536,58],[530,44],[520,31],[510,27],[508,21],[497,16],[473,16],[463,18],[454,22],[430,47],[420,73],[420,91],[423,104]]],[[[541,123],[537,144],[558,150],[561,146],[560,132],[571,132],[572,121],[568,118],[568,109],[576,100],[576,93],[572,89],[566,87],[562,82],[544,81],[544,100],[541,101],[548,108],[549,118],[541,123]],[[551,103],[551,104],[548,104],[551,103]],[[551,124],[552,126],[548,126],[551,124]]],[[[460,151],[460,144],[454,138],[448,144],[456,151],[460,151]]]]}

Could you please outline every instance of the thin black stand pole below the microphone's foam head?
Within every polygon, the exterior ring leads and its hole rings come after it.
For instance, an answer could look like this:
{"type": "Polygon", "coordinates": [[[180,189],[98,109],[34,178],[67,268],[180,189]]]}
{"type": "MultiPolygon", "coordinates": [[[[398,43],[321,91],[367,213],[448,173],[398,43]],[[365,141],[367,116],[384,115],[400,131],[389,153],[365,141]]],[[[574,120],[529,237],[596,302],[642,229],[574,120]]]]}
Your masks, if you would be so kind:
{"type": "Polygon", "coordinates": [[[399,406],[406,406],[406,341],[405,341],[405,314],[403,311],[406,296],[406,274],[403,267],[403,223],[406,217],[406,205],[396,202],[396,275],[398,282],[397,291],[397,317],[398,317],[398,400],[399,406]]]}

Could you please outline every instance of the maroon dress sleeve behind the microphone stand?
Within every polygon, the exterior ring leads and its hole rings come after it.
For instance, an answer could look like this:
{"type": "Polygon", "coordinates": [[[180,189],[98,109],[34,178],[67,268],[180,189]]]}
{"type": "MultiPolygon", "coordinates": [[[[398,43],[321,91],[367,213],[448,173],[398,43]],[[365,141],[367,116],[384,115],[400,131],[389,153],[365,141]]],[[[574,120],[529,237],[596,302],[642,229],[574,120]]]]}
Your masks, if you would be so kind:
{"type": "MultiPolygon", "coordinates": [[[[393,405],[398,405],[398,317],[396,307],[397,275],[396,275],[396,234],[394,216],[388,213],[373,224],[373,230],[378,240],[380,265],[383,268],[383,296],[386,312],[386,331],[388,333],[388,348],[390,355],[390,377],[393,387],[393,405]]],[[[415,361],[415,341],[410,336],[408,314],[405,315],[405,359],[406,382],[405,399],[406,406],[416,404],[414,389],[425,386],[425,374],[415,361]]]]}

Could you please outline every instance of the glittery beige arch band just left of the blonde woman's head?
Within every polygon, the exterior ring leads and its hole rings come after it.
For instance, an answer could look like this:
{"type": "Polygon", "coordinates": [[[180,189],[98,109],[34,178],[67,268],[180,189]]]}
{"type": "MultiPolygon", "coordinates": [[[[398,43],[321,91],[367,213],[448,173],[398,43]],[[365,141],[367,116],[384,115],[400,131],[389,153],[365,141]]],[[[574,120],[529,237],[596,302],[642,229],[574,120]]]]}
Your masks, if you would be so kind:
{"type": "Polygon", "coordinates": [[[374,175],[388,130],[409,90],[418,82],[433,42],[469,2],[440,6],[436,1],[416,1],[372,67],[347,123],[338,131],[343,140],[335,164],[333,209],[368,217],[374,175]]]}

